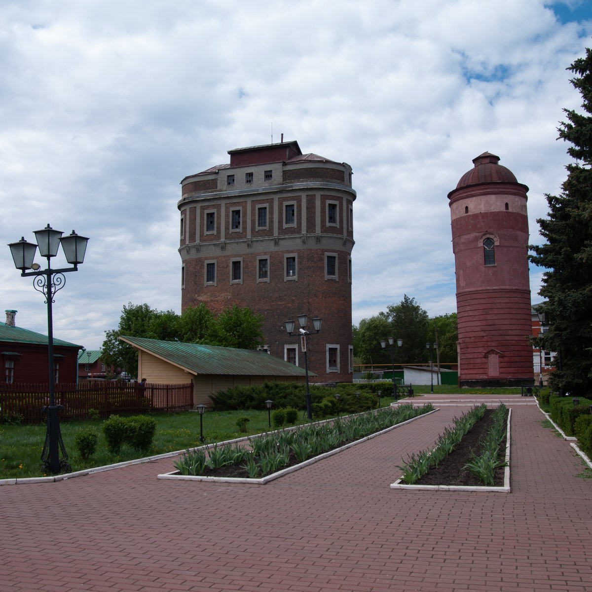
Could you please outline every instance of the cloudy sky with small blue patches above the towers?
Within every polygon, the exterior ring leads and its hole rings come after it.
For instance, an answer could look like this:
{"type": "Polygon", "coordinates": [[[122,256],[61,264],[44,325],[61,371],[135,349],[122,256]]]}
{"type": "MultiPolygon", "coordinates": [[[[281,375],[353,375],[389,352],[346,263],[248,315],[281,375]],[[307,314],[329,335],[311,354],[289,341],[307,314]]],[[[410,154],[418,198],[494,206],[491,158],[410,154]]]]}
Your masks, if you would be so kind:
{"type": "MultiPolygon", "coordinates": [[[[181,179],[283,133],[353,168],[353,323],[404,294],[453,312],[446,195],[475,156],[497,154],[530,188],[539,242],[544,194],[565,179],[556,127],[581,104],[565,68],[590,47],[590,6],[3,0],[1,237],[34,241],[48,223],[90,237],[54,335],[98,349],[128,302],[181,312],[181,179]]],[[[43,297],[4,249],[1,320],[14,308],[47,333],[43,297]]]]}

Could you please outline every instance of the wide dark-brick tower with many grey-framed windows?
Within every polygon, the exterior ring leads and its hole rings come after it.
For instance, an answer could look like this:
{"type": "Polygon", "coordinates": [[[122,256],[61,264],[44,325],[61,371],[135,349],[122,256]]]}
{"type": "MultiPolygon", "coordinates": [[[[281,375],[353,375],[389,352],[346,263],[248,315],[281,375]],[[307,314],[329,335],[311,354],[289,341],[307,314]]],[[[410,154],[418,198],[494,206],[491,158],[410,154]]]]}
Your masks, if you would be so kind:
{"type": "Polygon", "coordinates": [[[352,379],[352,169],[296,141],[229,150],[181,181],[182,308],[263,316],[265,349],[304,367],[285,320],[308,315],[313,382],[352,379]],[[321,317],[314,334],[312,318],[321,317]]]}

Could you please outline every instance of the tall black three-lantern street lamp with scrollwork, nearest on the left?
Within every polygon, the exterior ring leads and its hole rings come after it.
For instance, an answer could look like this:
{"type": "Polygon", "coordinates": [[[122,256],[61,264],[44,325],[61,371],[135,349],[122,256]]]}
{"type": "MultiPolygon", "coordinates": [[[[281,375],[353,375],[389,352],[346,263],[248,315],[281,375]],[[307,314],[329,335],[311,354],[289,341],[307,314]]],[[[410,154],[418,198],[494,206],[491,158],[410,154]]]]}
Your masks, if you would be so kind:
{"type": "Polygon", "coordinates": [[[68,455],[60,433],[59,410],[63,407],[56,405],[54,395],[55,390],[55,368],[53,361],[53,315],[52,303],[54,294],[62,289],[66,284],[66,278],[63,274],[69,271],[78,271],[78,265],[84,261],[86,253],[86,243],[88,238],[79,236],[72,230],[72,234],[62,236],[61,230],[53,230],[49,224],[43,230],[34,231],[37,244],[29,243],[24,237],[17,243],[10,243],[12,259],[17,269],[21,270],[21,276],[37,276],[33,281],[33,287],[41,292],[46,298],[47,303],[47,354],[49,360],[49,406],[43,407],[47,411],[47,433],[43,452],[41,453],[41,462],[44,469],[49,469],[53,474],[61,471],[70,471],[68,455]],[[64,255],[71,268],[52,269],[51,259],[57,255],[57,251],[62,245],[64,255]],[[35,252],[39,247],[41,257],[47,258],[47,269],[40,270],[38,263],[33,263],[35,252]],[[33,271],[27,272],[27,269],[33,271]],[[60,458],[60,451],[62,458],[60,458]]]}

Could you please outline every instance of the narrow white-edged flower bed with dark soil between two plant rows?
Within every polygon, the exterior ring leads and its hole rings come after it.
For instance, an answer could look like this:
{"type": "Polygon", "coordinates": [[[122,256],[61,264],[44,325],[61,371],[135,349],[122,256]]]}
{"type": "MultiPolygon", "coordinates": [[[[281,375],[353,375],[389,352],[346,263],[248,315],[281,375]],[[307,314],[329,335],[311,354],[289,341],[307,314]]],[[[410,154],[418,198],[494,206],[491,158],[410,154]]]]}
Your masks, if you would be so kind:
{"type": "MultiPolygon", "coordinates": [[[[484,406],[483,406],[484,407],[484,406]]],[[[473,411],[477,408],[473,408],[473,411]]],[[[481,413],[478,411],[477,413],[481,413]]],[[[462,418],[461,418],[462,419],[462,418]]],[[[458,420],[455,420],[457,422],[458,420]]],[[[418,455],[411,455],[407,463],[400,466],[404,475],[395,481],[391,488],[491,488],[491,490],[509,491],[509,410],[503,405],[496,410],[483,409],[482,415],[466,430],[461,439],[456,442],[447,455],[437,455],[439,446],[445,435],[440,436],[431,452],[420,452],[418,455]],[[491,440],[492,433],[496,432],[495,443],[490,443],[490,456],[486,456],[488,463],[488,478],[484,482],[479,459],[485,454],[488,440],[491,440]],[[426,462],[429,464],[430,455],[436,455],[433,465],[417,478],[417,473],[411,471],[414,465],[426,462]],[[481,478],[480,476],[481,475],[481,478]],[[408,477],[406,479],[406,477],[408,477]]],[[[466,426],[465,426],[466,427],[466,426]]],[[[453,430],[447,429],[448,433],[453,430]]],[[[444,445],[446,448],[446,444],[444,445]]],[[[485,463],[486,464],[486,463],[485,463]]],[[[425,467],[424,467],[425,468],[425,467]]]]}

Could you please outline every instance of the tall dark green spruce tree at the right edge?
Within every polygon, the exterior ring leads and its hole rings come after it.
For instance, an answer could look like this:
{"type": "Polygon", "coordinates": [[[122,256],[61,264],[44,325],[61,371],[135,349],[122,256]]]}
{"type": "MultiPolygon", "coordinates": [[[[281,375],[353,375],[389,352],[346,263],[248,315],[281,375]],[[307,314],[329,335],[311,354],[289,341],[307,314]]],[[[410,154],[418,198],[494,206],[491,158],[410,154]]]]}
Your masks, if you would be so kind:
{"type": "Polygon", "coordinates": [[[580,91],[584,113],[564,109],[567,121],[559,137],[571,144],[574,162],[561,195],[547,195],[549,213],[538,220],[546,240],[531,245],[530,260],[546,268],[540,295],[548,332],[540,339],[546,351],[558,353],[551,386],[564,394],[592,394],[592,52],[568,68],[580,91]]]}

